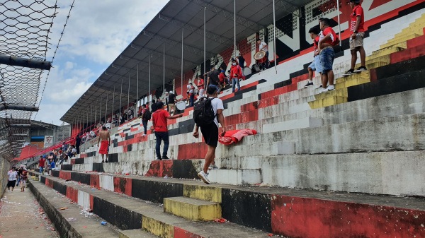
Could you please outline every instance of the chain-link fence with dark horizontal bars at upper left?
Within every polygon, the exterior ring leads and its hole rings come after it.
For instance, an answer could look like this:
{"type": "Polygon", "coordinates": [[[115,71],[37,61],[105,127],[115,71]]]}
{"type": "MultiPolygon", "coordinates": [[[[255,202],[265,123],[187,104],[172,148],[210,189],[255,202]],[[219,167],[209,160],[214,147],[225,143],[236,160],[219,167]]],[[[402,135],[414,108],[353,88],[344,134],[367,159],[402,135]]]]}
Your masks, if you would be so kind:
{"type": "MultiPolygon", "coordinates": [[[[1,1],[0,55],[46,61],[57,8],[57,1],[1,1]]],[[[0,64],[0,105],[4,105],[0,110],[1,158],[10,161],[20,155],[22,139],[28,136],[33,113],[8,107],[35,107],[41,78],[42,69],[0,64]]]]}

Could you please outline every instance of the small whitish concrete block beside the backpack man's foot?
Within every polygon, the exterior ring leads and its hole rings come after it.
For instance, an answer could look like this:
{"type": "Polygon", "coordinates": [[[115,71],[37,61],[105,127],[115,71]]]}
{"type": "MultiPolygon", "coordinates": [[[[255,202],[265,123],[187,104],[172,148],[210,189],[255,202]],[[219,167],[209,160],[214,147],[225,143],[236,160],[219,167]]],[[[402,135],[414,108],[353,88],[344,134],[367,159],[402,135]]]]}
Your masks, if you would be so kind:
{"type": "Polygon", "coordinates": [[[211,169],[208,179],[217,184],[261,184],[260,169],[211,169]]]}

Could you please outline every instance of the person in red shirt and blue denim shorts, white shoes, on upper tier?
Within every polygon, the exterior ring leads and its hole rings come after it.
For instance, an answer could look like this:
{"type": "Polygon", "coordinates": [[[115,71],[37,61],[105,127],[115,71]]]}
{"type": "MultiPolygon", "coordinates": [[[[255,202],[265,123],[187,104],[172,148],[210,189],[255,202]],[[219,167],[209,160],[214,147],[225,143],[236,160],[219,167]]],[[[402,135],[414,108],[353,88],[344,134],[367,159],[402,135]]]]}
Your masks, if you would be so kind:
{"type": "Polygon", "coordinates": [[[334,45],[337,41],[336,33],[334,29],[329,26],[330,20],[329,18],[322,18],[319,21],[320,30],[322,30],[322,34],[319,37],[319,49],[320,49],[320,62],[322,62],[322,86],[323,89],[321,93],[325,93],[330,90],[334,90],[334,45]],[[327,83],[329,82],[329,86],[327,83]]]}

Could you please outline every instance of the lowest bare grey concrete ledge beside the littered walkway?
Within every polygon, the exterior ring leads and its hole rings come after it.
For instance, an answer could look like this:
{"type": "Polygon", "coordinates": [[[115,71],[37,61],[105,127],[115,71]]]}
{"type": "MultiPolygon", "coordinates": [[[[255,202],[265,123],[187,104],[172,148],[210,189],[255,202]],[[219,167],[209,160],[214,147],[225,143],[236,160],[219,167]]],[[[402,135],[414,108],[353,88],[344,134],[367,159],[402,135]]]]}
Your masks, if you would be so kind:
{"type": "Polygon", "coordinates": [[[58,196],[54,189],[40,182],[31,181],[29,181],[29,187],[61,237],[118,237],[118,232],[113,227],[101,225],[102,220],[94,216],[81,215],[81,207],[75,203],[70,204],[66,197],[58,196]],[[76,220],[70,221],[68,218],[76,220]]]}

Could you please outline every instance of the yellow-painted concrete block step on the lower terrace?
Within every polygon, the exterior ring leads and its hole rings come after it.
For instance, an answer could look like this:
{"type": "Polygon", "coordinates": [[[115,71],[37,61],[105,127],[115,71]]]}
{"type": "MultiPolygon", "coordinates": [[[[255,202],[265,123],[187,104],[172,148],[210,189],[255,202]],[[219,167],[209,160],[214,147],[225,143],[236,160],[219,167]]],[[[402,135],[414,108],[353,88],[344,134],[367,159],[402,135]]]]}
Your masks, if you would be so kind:
{"type": "Polygon", "coordinates": [[[210,221],[222,217],[220,203],[183,196],[164,198],[164,212],[193,221],[210,221]]]}

